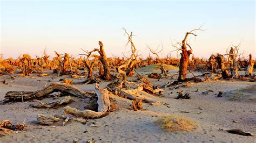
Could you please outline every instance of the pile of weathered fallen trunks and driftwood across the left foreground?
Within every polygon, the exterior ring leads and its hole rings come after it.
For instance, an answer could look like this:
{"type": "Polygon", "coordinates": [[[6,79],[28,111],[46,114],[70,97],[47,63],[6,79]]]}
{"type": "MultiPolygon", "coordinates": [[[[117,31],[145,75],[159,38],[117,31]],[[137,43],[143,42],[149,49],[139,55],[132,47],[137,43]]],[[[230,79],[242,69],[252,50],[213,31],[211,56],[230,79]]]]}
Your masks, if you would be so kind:
{"type": "Polygon", "coordinates": [[[83,91],[71,84],[52,83],[48,87],[37,91],[8,91],[5,94],[4,103],[36,101],[36,104],[30,104],[33,108],[59,108],[71,102],[76,102],[76,99],[73,99],[72,96],[86,98],[90,105],[85,110],[78,110],[67,105],[63,108],[61,114],[37,115],[37,123],[39,124],[53,124],[60,120],[63,121],[63,125],[69,120],[86,123],[86,119],[104,117],[110,112],[111,102],[109,95],[111,93],[109,91],[114,95],[132,99],[134,110],[142,110],[142,102],[151,104],[158,102],[153,99],[153,96],[160,96],[163,89],[154,87],[145,77],[139,77],[138,80],[133,82],[126,80],[112,82],[104,90],[99,87],[98,83],[95,83],[95,92],[83,91]],[[56,94],[57,92],[58,94],[56,94]],[[40,101],[43,98],[52,96],[65,97],[50,103],[40,101]],[[95,110],[95,108],[97,109],[95,110]],[[73,117],[67,115],[72,115],[73,117]]]}

